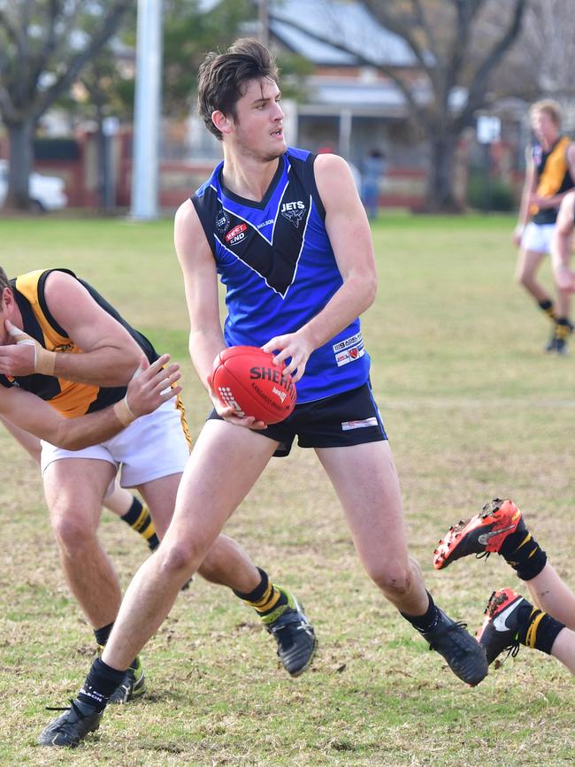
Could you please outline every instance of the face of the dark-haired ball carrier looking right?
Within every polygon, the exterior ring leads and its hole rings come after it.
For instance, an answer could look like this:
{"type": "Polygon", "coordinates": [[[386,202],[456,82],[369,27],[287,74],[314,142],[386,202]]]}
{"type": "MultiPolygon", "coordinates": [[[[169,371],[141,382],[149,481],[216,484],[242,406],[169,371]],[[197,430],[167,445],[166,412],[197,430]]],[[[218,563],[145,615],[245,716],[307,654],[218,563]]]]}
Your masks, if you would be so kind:
{"type": "Polygon", "coordinates": [[[280,88],[272,80],[249,81],[235,104],[234,146],[242,153],[268,162],[286,151],[280,95],[280,88]]]}

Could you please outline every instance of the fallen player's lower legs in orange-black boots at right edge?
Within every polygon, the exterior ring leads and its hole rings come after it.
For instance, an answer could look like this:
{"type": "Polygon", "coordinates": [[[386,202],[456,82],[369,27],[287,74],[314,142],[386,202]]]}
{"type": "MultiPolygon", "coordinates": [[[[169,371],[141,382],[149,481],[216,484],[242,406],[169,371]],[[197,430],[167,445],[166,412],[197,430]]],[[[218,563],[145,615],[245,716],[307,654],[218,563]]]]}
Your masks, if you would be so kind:
{"type": "Polygon", "coordinates": [[[472,554],[502,556],[525,581],[532,599],[511,588],[491,594],[478,633],[487,662],[505,651],[516,656],[524,645],[556,657],[575,674],[575,594],[549,564],[514,502],[495,498],[479,514],[450,527],[433,552],[433,566],[443,570],[472,554]]]}

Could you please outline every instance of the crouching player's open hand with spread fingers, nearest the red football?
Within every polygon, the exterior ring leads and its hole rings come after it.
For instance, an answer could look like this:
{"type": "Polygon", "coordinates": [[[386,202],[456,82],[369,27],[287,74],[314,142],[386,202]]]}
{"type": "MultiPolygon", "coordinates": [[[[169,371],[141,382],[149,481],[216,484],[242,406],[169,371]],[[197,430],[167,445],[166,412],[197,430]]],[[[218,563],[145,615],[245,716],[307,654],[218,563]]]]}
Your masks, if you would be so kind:
{"type": "Polygon", "coordinates": [[[169,354],[163,354],[152,364],[147,357],[142,357],[126,391],[126,403],[136,418],[152,413],[180,394],[181,387],[173,386],[181,378],[180,365],[173,363],[165,367],[169,361],[169,354]]]}

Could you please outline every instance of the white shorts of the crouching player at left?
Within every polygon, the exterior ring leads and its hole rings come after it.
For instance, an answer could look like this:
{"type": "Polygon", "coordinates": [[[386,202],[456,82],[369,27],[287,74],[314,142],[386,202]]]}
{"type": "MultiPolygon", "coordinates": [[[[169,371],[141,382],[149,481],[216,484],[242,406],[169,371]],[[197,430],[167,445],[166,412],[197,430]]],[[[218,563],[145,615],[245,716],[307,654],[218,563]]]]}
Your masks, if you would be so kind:
{"type": "Polygon", "coordinates": [[[65,450],[42,440],[40,466],[43,474],[47,466],[61,458],[108,461],[116,472],[120,470],[122,487],[137,487],[152,479],[183,472],[189,450],[188,427],[183,408],[177,407],[175,401],[170,400],[153,413],[136,418],[111,440],[91,448],[65,450]]]}

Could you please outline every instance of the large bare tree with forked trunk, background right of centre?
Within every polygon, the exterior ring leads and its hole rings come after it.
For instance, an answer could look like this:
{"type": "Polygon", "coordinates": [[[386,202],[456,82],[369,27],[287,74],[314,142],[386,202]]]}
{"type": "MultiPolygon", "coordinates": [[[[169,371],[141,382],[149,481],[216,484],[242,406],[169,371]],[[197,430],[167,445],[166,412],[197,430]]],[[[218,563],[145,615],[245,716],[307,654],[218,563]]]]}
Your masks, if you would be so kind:
{"type": "Polygon", "coordinates": [[[429,207],[453,210],[456,201],[451,188],[451,170],[457,138],[463,128],[471,123],[473,112],[484,103],[489,77],[516,40],[528,0],[509,0],[503,12],[497,0],[358,2],[372,13],[382,27],[403,40],[418,63],[415,68],[407,72],[405,67],[402,69],[382,63],[377,55],[365,53],[359,45],[346,44],[347,38],[343,34],[338,41],[334,41],[334,36],[323,30],[311,31],[297,20],[285,17],[282,21],[319,42],[353,54],[358,64],[372,66],[395,83],[405,98],[411,116],[424,127],[430,142],[429,207]],[[484,46],[479,45],[479,62],[474,63],[473,43],[477,43],[474,33],[489,4],[493,7],[494,16],[497,15],[497,27],[491,30],[491,39],[495,38],[495,42],[487,53],[483,51],[484,46]],[[505,19],[510,19],[509,23],[505,19]],[[429,84],[429,90],[422,97],[418,88],[425,81],[429,84]],[[467,88],[468,94],[466,103],[459,111],[452,101],[456,88],[467,88]]]}

